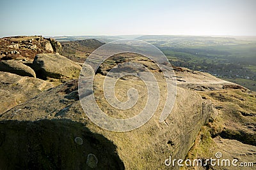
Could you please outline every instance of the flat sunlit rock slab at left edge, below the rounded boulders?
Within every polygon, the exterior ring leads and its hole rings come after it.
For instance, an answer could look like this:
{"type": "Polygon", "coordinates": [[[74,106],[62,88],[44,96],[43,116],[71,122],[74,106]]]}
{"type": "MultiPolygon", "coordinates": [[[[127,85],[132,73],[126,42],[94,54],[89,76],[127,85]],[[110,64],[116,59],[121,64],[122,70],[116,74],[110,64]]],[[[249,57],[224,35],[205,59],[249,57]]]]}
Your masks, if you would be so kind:
{"type": "Polygon", "coordinates": [[[4,111],[13,108],[13,106],[23,103],[43,90],[52,87],[51,83],[44,80],[2,71],[0,71],[0,80],[0,115],[4,111]]]}

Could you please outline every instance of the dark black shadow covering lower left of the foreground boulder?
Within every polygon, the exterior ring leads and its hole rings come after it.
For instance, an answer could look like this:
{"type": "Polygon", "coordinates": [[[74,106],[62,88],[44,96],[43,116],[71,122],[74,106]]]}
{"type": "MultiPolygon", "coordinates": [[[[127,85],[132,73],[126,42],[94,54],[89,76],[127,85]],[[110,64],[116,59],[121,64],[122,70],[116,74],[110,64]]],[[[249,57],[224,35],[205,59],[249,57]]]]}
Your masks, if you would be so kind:
{"type": "Polygon", "coordinates": [[[116,146],[67,119],[0,122],[0,169],[124,169],[116,146]]]}

